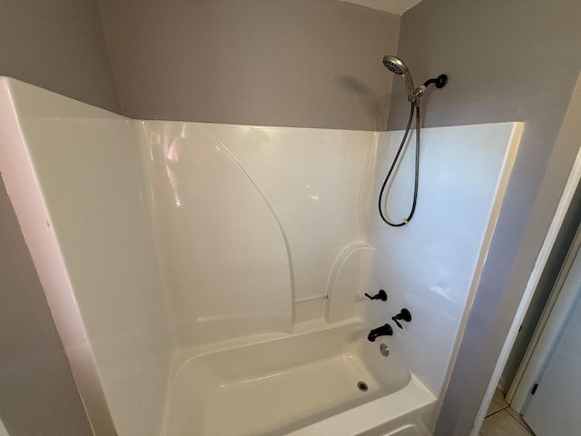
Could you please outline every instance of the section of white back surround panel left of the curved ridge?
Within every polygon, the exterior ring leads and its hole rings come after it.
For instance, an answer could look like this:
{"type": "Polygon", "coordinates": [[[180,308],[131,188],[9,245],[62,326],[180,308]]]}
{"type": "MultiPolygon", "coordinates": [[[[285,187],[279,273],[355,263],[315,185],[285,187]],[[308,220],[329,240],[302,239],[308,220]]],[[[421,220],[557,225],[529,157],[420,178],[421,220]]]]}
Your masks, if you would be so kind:
{"type": "Polygon", "coordinates": [[[143,128],[180,345],[290,331],[289,253],[251,178],[204,124],[143,128]]]}

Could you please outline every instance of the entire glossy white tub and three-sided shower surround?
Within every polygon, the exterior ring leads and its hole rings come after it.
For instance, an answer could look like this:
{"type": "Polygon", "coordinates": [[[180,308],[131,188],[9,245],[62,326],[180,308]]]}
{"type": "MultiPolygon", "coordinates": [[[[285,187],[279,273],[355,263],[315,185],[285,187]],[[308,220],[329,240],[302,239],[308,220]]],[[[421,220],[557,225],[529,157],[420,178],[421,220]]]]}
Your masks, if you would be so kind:
{"type": "Polygon", "coordinates": [[[7,78],[0,125],[96,435],[429,434],[522,124],[422,130],[398,229],[400,132],[136,121],[7,78]]]}

